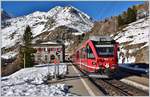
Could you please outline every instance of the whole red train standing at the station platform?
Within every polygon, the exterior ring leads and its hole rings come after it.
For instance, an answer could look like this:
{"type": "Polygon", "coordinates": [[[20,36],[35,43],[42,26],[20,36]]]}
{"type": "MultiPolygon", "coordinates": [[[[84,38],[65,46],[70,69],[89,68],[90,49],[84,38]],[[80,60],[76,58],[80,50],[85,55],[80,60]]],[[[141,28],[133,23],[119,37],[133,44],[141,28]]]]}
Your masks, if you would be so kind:
{"type": "Polygon", "coordinates": [[[118,69],[118,43],[109,36],[91,36],[71,56],[91,77],[110,77],[118,69]]]}

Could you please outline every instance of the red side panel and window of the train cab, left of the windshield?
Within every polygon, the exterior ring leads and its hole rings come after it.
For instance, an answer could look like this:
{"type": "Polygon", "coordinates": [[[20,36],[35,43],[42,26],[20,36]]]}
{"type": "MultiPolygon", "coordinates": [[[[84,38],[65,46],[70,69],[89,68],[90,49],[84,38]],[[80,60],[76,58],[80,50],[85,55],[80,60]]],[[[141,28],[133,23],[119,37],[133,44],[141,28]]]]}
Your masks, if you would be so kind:
{"type": "Polygon", "coordinates": [[[87,71],[94,72],[96,68],[96,59],[94,53],[89,45],[86,46],[86,49],[87,49],[87,71]]]}

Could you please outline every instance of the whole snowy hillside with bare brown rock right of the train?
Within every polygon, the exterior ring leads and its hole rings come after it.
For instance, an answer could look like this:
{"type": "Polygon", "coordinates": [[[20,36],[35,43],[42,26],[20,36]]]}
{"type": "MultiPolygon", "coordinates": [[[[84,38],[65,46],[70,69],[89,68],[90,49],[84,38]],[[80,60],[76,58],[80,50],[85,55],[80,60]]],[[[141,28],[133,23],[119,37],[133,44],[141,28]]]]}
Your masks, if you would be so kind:
{"type": "Polygon", "coordinates": [[[148,17],[137,20],[112,35],[120,43],[120,63],[123,57],[125,63],[149,63],[149,20],[148,17]]]}

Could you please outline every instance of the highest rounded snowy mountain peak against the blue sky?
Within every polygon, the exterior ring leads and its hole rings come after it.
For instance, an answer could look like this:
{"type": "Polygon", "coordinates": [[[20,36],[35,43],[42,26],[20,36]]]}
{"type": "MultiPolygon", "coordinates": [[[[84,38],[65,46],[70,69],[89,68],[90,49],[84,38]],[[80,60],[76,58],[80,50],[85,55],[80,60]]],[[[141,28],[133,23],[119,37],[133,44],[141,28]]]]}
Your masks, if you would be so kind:
{"type": "Polygon", "coordinates": [[[83,33],[90,31],[93,26],[93,22],[87,14],[72,6],[57,6],[48,11],[48,13],[51,20],[50,24],[49,22],[46,24],[46,27],[48,28],[46,30],[50,30],[52,27],[65,25],[67,27],[77,29],[80,33],[83,33]],[[51,26],[48,27],[47,25],[51,26]]]}

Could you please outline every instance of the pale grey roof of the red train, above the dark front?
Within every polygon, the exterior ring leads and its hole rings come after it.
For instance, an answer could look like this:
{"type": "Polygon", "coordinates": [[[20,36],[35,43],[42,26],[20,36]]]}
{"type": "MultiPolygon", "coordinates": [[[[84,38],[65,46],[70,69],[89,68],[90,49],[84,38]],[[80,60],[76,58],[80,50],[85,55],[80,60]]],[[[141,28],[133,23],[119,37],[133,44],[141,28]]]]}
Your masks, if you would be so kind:
{"type": "Polygon", "coordinates": [[[90,36],[89,39],[92,41],[113,41],[114,40],[110,36],[90,36]]]}

